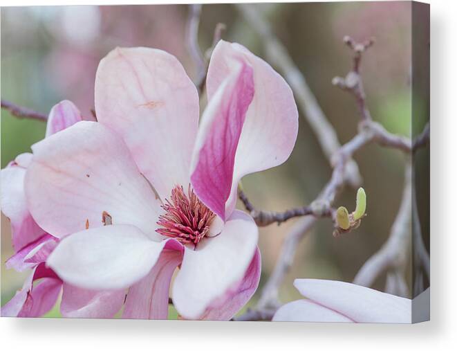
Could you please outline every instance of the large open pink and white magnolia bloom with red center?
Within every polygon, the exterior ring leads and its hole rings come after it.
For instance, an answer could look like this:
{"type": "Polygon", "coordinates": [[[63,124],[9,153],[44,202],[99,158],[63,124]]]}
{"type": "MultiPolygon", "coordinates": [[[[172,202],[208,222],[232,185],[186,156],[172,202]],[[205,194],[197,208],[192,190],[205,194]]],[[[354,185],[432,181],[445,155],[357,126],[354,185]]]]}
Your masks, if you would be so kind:
{"type": "Polygon", "coordinates": [[[95,78],[97,123],[33,145],[26,199],[62,239],[48,267],[84,289],[129,288],[124,318],[230,319],[259,284],[258,229],[235,210],[245,174],[288,159],[298,128],[288,84],[239,44],[219,42],[198,125],[176,57],[116,48],[95,78]]]}

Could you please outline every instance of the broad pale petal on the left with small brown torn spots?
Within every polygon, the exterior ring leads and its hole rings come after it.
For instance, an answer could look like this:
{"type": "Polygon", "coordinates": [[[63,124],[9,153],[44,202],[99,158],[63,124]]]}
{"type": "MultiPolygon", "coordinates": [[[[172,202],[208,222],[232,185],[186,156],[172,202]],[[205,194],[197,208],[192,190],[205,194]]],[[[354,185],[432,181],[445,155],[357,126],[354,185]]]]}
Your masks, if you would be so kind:
{"type": "Polygon", "coordinates": [[[30,213],[56,237],[112,224],[132,224],[152,238],[160,201],[129,150],[109,128],[80,122],[32,147],[26,179],[30,213]]]}

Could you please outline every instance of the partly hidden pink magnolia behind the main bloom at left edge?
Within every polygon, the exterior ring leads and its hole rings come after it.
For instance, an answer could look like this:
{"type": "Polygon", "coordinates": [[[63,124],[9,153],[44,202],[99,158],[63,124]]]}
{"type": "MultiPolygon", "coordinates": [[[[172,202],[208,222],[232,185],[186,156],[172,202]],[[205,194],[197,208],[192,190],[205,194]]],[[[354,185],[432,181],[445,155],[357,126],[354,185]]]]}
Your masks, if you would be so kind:
{"type": "MultiPolygon", "coordinates": [[[[82,120],[80,111],[70,101],[55,105],[48,116],[46,137],[82,120]]],[[[55,249],[57,237],[46,233],[30,215],[24,192],[24,177],[33,155],[20,154],[1,170],[1,210],[10,219],[15,255],[6,268],[32,269],[17,294],[1,307],[1,316],[39,317],[55,305],[62,291],[60,310],[66,317],[109,318],[124,302],[124,291],[88,291],[68,285],[45,265],[55,249]]]]}

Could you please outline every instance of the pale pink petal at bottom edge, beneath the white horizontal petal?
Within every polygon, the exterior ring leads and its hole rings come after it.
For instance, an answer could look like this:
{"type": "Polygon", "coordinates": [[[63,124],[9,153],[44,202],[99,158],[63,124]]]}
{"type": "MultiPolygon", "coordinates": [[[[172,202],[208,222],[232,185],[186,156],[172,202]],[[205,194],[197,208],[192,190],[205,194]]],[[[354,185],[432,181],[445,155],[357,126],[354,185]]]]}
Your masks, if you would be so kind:
{"type": "Polygon", "coordinates": [[[124,289],[97,291],[64,283],[60,312],[67,318],[113,318],[124,298],[124,289]]]}

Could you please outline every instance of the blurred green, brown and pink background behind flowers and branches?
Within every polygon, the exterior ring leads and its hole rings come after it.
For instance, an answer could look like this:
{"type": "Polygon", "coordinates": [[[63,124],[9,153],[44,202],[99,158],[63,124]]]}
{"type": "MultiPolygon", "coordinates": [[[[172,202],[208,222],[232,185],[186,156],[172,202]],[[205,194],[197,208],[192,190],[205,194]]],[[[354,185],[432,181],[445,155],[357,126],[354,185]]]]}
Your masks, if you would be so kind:
{"type": "MultiPolygon", "coordinates": [[[[351,52],[342,37],[376,43],[364,55],[363,76],[373,118],[390,132],[411,136],[411,3],[289,3],[259,4],[272,30],[285,44],[304,73],[339,140],[357,131],[359,117],[353,98],[330,83],[351,65],[351,52]]],[[[90,116],[97,64],[115,46],[151,46],[178,57],[189,75],[195,67],[185,42],[187,6],[62,6],[1,9],[1,98],[47,113],[59,100],[68,99],[90,116]]],[[[239,42],[264,56],[263,43],[232,5],[205,5],[200,21],[200,46],[212,44],[214,27],[223,22],[223,39],[239,42]]],[[[423,125],[428,105],[419,108],[423,125]]],[[[301,111],[300,111],[301,114],[301,111]]],[[[19,120],[1,111],[1,167],[44,137],[45,124],[19,120]]],[[[427,151],[416,163],[423,174],[416,183],[427,188],[427,151]]],[[[364,177],[368,217],[348,235],[334,238],[332,223],[319,220],[299,244],[295,263],[281,287],[281,300],[299,298],[295,278],[351,281],[362,264],[389,236],[403,188],[404,156],[398,151],[369,145],[356,154],[364,177]]],[[[306,119],[300,116],[299,137],[290,159],[278,168],[243,179],[243,188],[258,208],[285,210],[309,204],[331,174],[306,119]]],[[[429,247],[429,192],[418,192],[422,232],[429,247]]],[[[346,189],[336,206],[355,206],[355,190],[346,189]]],[[[270,275],[283,238],[294,220],[261,228],[263,256],[261,286],[270,275]]],[[[26,273],[8,271],[12,255],[8,219],[1,217],[1,305],[21,287],[26,273]]],[[[411,277],[409,277],[411,284],[411,277]]],[[[260,286],[260,288],[261,288],[260,286]]],[[[384,277],[375,283],[384,288],[384,277]]],[[[252,302],[258,296],[254,296],[252,302]]],[[[251,303],[252,303],[251,302],[251,303]]],[[[59,316],[58,306],[48,316],[59,316]]]]}

